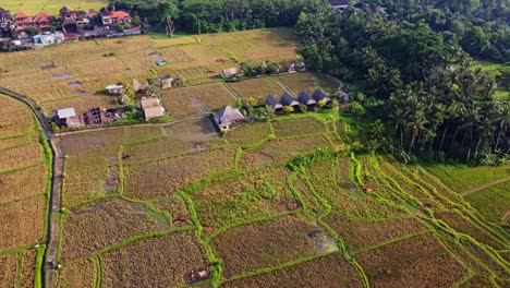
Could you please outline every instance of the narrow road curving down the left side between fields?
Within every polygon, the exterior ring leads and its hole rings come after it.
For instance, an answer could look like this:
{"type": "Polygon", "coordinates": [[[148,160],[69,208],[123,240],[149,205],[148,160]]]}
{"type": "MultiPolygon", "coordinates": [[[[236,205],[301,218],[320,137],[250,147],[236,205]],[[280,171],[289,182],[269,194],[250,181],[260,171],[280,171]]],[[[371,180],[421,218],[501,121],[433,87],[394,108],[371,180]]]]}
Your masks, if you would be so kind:
{"type": "Polygon", "coordinates": [[[57,251],[59,247],[59,218],[60,218],[60,196],[62,190],[62,171],[63,171],[63,154],[62,148],[60,146],[59,141],[57,140],[56,135],[51,130],[51,125],[38,108],[38,106],[31,99],[26,98],[23,95],[19,95],[13,93],[9,89],[0,88],[0,93],[7,96],[10,96],[16,100],[20,100],[26,104],[32,111],[34,111],[40,128],[42,129],[42,133],[45,135],[46,141],[48,142],[51,154],[52,154],[52,163],[51,163],[51,192],[49,195],[49,205],[50,209],[48,213],[48,231],[46,237],[46,263],[44,264],[44,285],[45,287],[52,287],[53,284],[53,267],[54,261],[57,257],[57,251]]]}

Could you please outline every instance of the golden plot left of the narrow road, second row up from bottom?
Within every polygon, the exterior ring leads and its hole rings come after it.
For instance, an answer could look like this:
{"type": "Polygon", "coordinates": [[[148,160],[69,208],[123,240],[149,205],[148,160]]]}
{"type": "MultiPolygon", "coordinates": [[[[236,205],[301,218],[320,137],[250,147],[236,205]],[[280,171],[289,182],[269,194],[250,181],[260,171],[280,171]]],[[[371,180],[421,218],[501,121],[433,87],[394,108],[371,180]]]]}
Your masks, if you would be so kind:
{"type": "Polygon", "coordinates": [[[42,240],[46,196],[0,206],[0,252],[42,240]]]}

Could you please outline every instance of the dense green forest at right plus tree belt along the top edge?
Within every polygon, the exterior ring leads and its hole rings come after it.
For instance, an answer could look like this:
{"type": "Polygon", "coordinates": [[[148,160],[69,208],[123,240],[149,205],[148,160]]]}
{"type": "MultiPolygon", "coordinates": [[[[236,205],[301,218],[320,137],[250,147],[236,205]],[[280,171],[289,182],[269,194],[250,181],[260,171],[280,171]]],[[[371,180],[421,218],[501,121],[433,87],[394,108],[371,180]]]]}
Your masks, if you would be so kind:
{"type": "MultiPolygon", "coordinates": [[[[327,2],[114,0],[110,7],[171,25],[172,33],[295,25],[308,67],[341,79],[349,111],[372,119],[367,148],[404,160],[506,161],[509,97],[495,97],[494,75],[472,59],[510,60],[508,1],[367,0],[341,12],[327,2]]],[[[508,87],[508,69],[497,76],[508,87]]]]}

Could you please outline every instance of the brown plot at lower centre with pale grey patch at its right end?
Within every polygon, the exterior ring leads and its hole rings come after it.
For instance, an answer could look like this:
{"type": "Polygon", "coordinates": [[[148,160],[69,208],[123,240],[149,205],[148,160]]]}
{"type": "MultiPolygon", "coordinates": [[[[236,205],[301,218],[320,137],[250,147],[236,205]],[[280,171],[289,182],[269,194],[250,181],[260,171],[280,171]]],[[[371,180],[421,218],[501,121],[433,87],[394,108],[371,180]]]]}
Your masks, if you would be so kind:
{"type": "Polygon", "coordinates": [[[223,260],[227,278],[338,250],[337,241],[324,229],[299,216],[238,227],[221,233],[211,244],[223,260]]]}

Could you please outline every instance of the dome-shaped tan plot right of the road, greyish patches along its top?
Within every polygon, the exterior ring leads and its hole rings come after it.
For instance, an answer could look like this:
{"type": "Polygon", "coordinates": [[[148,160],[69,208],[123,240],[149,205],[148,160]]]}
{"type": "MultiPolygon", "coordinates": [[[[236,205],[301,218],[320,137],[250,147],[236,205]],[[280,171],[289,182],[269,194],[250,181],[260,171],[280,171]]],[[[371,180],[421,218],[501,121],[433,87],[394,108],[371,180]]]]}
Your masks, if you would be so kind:
{"type": "Polygon", "coordinates": [[[169,229],[166,218],[144,204],[117,199],[71,209],[63,227],[63,261],[90,256],[125,238],[169,229]]]}

